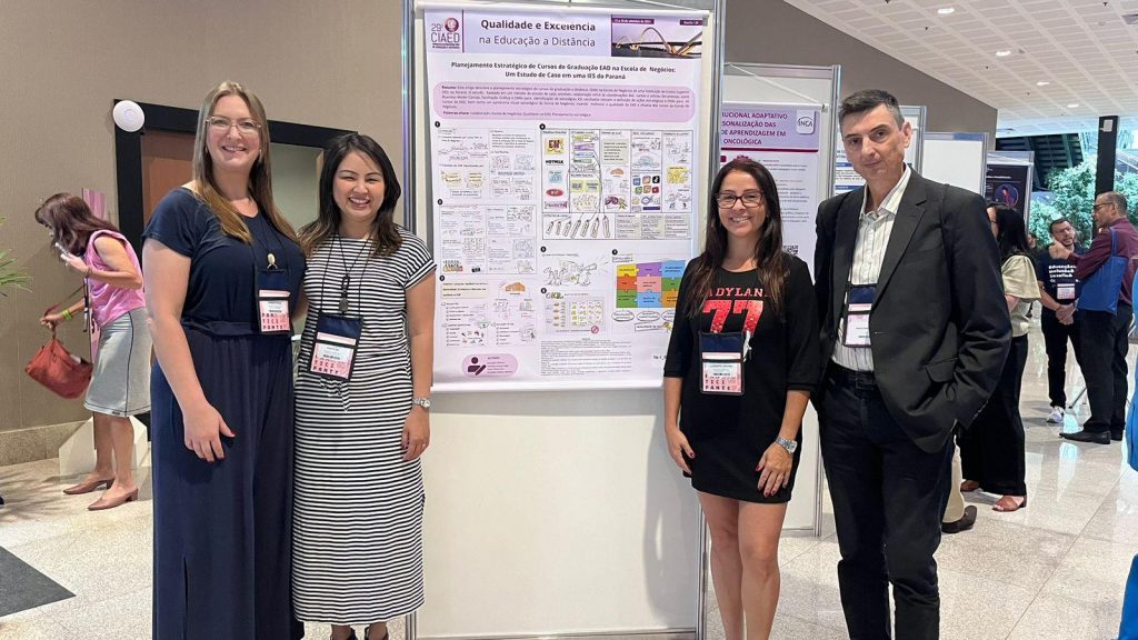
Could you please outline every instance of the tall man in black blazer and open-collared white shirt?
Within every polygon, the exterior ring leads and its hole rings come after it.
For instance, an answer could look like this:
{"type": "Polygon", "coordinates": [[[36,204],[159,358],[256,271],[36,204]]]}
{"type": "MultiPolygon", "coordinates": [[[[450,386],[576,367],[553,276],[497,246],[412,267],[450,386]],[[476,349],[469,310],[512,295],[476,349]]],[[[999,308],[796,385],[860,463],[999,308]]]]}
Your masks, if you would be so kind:
{"type": "Polygon", "coordinates": [[[853,640],[940,637],[933,553],[957,428],[999,379],[1011,340],[999,255],[976,195],[905,164],[897,99],[859,91],[838,113],[866,180],[818,207],[816,293],[826,363],[815,399],[853,640]]]}

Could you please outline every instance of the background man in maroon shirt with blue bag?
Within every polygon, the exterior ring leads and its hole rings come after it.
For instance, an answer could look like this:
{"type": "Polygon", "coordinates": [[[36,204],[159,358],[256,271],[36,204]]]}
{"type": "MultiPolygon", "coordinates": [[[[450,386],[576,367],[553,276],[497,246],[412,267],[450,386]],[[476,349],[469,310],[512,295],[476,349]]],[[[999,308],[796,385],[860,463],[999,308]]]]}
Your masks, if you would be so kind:
{"type": "MultiPolygon", "coordinates": [[[[1121,441],[1125,427],[1127,352],[1130,348],[1127,333],[1133,318],[1133,277],[1138,270],[1138,230],[1127,219],[1127,199],[1118,191],[1106,191],[1095,198],[1091,212],[1098,233],[1087,253],[1079,255],[1062,249],[1058,255],[1075,265],[1074,277],[1082,282],[1079,293],[1079,312],[1075,321],[1082,344],[1082,377],[1087,380],[1087,400],[1090,418],[1082,429],[1061,433],[1059,437],[1075,442],[1110,444],[1121,441]],[[1118,263],[1122,264],[1119,265],[1118,263]],[[1107,295],[1116,301],[1118,310],[1091,310],[1086,298],[1088,280],[1106,277],[1108,271],[1121,271],[1122,281],[1107,295]],[[1116,297],[1115,297],[1116,296],[1116,297]]],[[[1098,301],[1106,302],[1106,301],[1098,301]]],[[[1096,305],[1098,306],[1098,305],[1096,305]]],[[[1056,314],[1059,315],[1059,314],[1056,314]]],[[[1067,313],[1059,315],[1061,319],[1067,313]]]]}

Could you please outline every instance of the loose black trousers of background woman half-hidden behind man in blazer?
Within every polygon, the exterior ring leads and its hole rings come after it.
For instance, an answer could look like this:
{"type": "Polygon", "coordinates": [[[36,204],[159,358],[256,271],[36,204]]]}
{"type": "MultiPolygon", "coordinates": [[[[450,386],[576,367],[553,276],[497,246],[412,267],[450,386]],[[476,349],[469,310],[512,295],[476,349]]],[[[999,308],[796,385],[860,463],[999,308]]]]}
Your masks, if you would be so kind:
{"type": "Polygon", "coordinates": [[[1026,495],[1020,388],[1028,363],[1028,336],[1012,338],[999,383],[960,437],[964,479],[1000,495],[1026,495]]]}

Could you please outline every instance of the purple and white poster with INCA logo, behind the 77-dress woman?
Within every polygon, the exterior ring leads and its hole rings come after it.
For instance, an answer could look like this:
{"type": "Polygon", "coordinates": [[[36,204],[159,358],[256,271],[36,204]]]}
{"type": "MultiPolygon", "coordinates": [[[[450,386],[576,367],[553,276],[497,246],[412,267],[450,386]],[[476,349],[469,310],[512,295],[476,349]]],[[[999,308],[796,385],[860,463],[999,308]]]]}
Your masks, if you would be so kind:
{"type": "Polygon", "coordinates": [[[783,248],[814,264],[820,136],[817,106],[724,102],[719,164],[739,156],[762,163],[778,188],[783,248]]]}

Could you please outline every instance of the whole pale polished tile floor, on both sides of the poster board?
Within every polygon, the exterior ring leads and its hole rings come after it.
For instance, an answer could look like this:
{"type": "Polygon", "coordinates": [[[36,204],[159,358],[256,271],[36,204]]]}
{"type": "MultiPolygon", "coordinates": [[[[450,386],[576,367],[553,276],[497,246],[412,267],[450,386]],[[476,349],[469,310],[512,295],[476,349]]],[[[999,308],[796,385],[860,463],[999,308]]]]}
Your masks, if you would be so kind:
{"type": "MultiPolygon", "coordinates": [[[[1073,358],[1070,359],[1073,363],[1073,358]]],[[[1023,386],[1030,507],[990,509],[996,497],[966,497],[980,508],[972,531],[945,536],[940,565],[946,640],[1104,640],[1118,634],[1122,591],[1138,552],[1138,474],[1122,446],[1057,437],[1047,415],[1046,356],[1038,331],[1023,386]]],[[[1082,388],[1077,368],[1069,392],[1082,388]]],[[[1086,412],[1086,404],[1080,407],[1086,412]]],[[[1074,430],[1085,415],[1069,413],[1074,430]]],[[[75,593],[0,617],[0,640],[141,640],[150,637],[149,478],[138,502],[100,514],[93,497],[65,497],[56,460],[0,468],[0,547],[75,593]],[[109,553],[114,549],[118,552],[109,553]]],[[[827,518],[828,509],[826,509],[827,518]]],[[[822,538],[782,541],[782,597],[773,638],[846,638],[838,597],[838,543],[830,519],[822,538]]],[[[2,580],[2,576],[0,576],[2,580]]],[[[714,594],[708,638],[723,638],[714,594]]],[[[403,637],[393,625],[393,640],[403,637]]],[[[308,638],[327,638],[310,626],[308,638]]]]}

